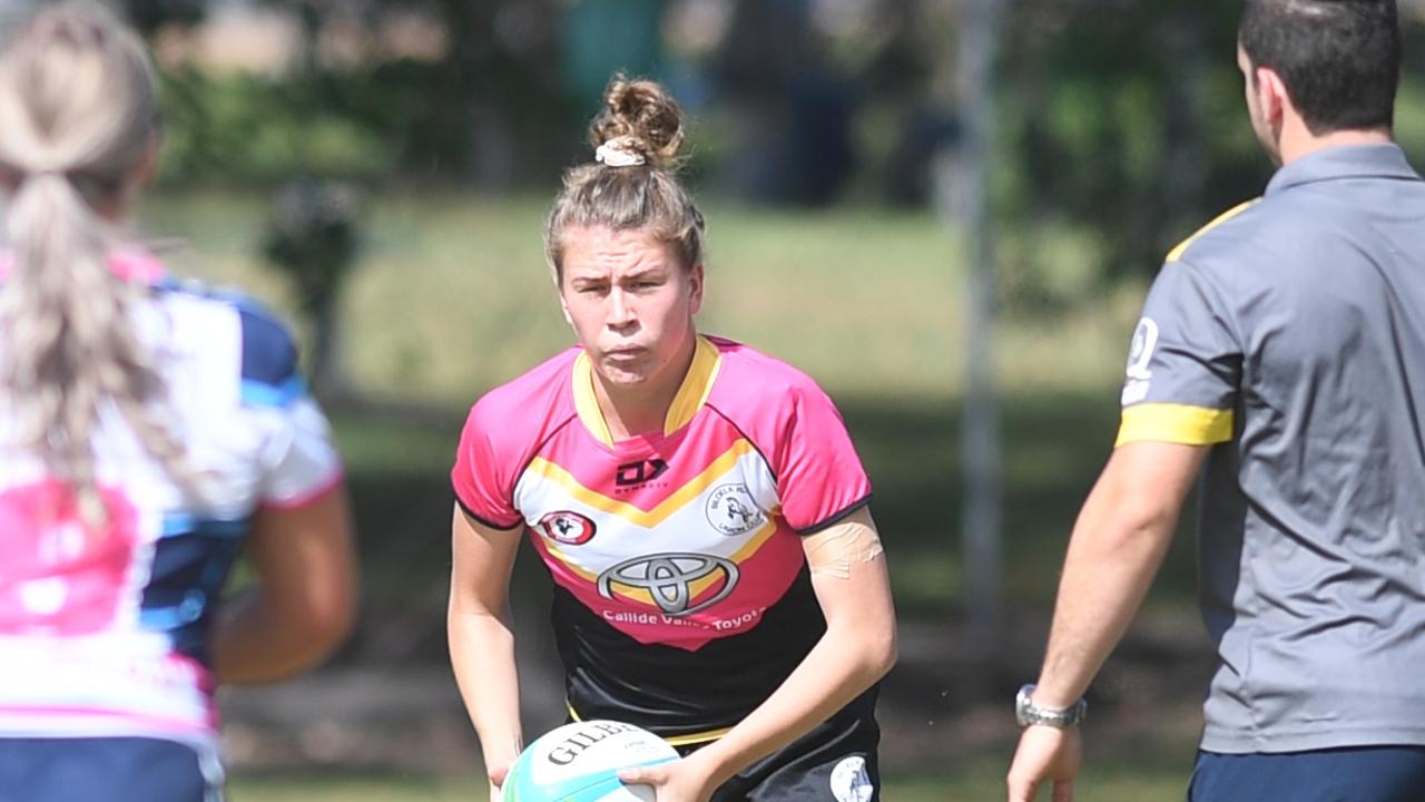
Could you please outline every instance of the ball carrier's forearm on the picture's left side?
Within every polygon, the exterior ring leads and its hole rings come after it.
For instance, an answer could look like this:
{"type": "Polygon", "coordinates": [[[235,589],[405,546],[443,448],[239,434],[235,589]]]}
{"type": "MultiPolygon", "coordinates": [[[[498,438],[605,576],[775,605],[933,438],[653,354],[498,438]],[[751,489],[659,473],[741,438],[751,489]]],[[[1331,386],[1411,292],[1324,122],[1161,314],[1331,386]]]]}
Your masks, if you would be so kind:
{"type": "Polygon", "coordinates": [[[509,614],[452,606],[447,616],[450,665],[486,766],[509,768],[523,746],[520,685],[509,614]]]}

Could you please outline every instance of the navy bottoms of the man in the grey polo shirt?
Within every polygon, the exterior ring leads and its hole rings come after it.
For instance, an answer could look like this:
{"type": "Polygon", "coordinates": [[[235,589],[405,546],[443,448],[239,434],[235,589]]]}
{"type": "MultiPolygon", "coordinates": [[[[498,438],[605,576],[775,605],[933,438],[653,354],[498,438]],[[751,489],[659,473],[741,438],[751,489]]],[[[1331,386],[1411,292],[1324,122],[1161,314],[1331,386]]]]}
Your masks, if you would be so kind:
{"type": "Polygon", "coordinates": [[[1188,802],[1421,802],[1425,746],[1351,746],[1280,755],[1198,752],[1188,802]]]}

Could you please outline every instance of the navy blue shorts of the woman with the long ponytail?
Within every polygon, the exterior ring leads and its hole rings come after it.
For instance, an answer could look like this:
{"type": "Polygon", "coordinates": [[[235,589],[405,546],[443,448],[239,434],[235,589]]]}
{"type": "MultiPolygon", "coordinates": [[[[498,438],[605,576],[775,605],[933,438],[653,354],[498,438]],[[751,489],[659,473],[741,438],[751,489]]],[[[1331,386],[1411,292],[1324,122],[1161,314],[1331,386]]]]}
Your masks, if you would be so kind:
{"type": "Polygon", "coordinates": [[[0,738],[0,802],[218,802],[211,749],[157,738],[0,738]]]}

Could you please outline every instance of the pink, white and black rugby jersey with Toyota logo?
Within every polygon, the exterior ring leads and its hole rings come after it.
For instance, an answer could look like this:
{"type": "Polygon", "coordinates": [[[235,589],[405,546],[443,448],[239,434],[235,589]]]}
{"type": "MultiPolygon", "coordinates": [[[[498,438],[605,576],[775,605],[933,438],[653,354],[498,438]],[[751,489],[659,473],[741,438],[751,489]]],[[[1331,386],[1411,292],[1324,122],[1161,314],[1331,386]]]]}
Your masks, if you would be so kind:
{"type": "Polygon", "coordinates": [[[661,434],[613,441],[573,348],[475,405],[452,481],[549,567],[576,715],[664,734],[735,722],[801,661],[825,621],[799,535],[871,497],[815,382],[705,337],[661,434]]]}

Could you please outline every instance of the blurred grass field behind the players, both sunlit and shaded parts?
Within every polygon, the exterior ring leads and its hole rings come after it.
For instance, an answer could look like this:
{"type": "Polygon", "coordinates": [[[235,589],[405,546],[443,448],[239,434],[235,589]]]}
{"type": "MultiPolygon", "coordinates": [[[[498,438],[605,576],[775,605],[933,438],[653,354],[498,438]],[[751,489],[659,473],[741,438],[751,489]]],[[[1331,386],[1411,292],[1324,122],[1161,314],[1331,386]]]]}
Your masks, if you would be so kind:
{"type": "MultiPolygon", "coordinates": [[[[963,327],[956,237],[928,215],[707,211],[701,328],[787,358],[832,394],[875,484],[902,616],[959,616],[962,370],[970,338],[985,333],[963,327]]],[[[332,410],[356,507],[368,632],[343,659],[445,659],[446,471],[465,410],[571,341],[543,264],[542,214],[542,203],[469,197],[383,197],[369,210],[365,257],[343,304],[345,364],[365,401],[332,410]]],[[[262,198],[191,194],[154,198],[144,224],[187,243],[167,248],[180,273],[239,283],[295,320],[279,278],[255,255],[264,215],[262,198]]],[[[1062,281],[1082,281],[1067,243],[1062,281]]],[[[993,342],[1003,400],[1005,594],[1016,609],[1042,615],[1052,601],[1073,514],[1112,442],[1141,293],[1131,283],[1082,287],[1082,304],[1053,311],[1005,300],[993,342]]],[[[1188,547],[1187,538],[1174,547],[1154,605],[1186,604],[1188,547]]],[[[519,587],[539,574],[529,559],[516,569],[519,587]]],[[[982,685],[998,694],[1020,679],[982,685]]],[[[1181,798],[1190,741],[1143,749],[1134,741],[1107,736],[1104,752],[1090,753],[1080,799],[1181,798]]],[[[888,772],[885,798],[998,799],[1006,749],[982,745],[949,768],[888,772]]],[[[470,776],[256,776],[238,766],[232,782],[237,802],[482,798],[470,776]]]]}

